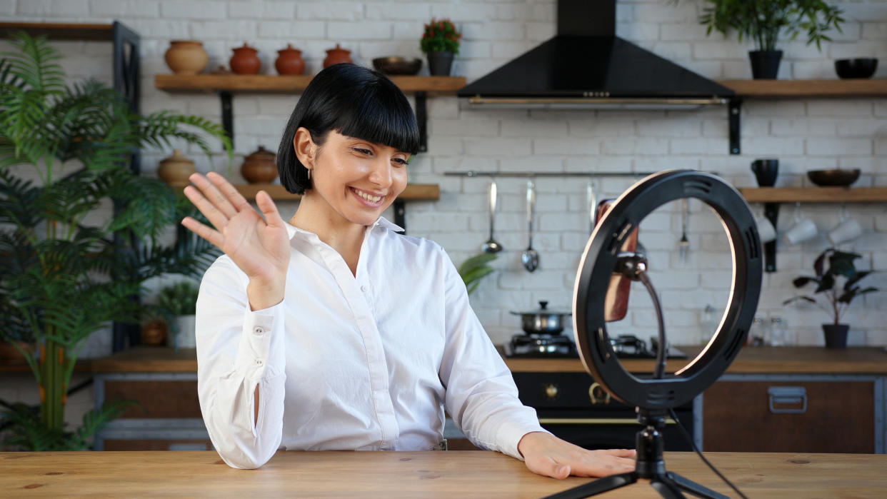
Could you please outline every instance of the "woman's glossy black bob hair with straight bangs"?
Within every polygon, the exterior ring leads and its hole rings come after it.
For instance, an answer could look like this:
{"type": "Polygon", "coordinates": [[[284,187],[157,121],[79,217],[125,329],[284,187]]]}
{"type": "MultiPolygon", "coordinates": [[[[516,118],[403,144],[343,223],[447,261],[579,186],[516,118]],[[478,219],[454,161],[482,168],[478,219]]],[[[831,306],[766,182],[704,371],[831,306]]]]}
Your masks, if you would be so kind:
{"type": "Polygon", "coordinates": [[[330,130],[397,151],[419,152],[419,126],[404,92],[384,74],[354,64],[329,66],[315,76],[295,105],[278,148],[280,184],[302,194],[311,188],[308,169],[295,155],[299,127],[323,145],[330,130]]]}

